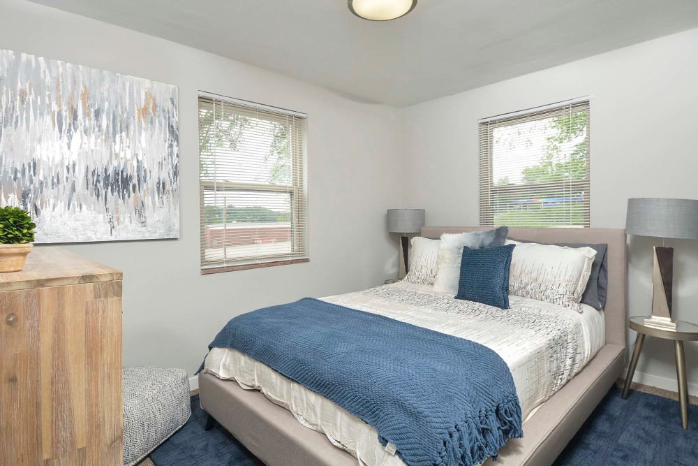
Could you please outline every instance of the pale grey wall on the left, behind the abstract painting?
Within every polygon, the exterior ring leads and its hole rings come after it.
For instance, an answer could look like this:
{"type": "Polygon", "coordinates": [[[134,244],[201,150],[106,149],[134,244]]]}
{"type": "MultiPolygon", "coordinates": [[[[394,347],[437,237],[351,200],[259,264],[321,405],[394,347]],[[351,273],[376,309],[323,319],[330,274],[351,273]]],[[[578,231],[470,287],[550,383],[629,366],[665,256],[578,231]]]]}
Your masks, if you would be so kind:
{"type": "Polygon", "coordinates": [[[26,1],[0,11],[0,48],[179,86],[181,238],[68,247],[124,271],[124,363],[192,374],[236,314],[396,276],[385,210],[399,206],[397,110],[26,1]],[[200,275],[200,89],[308,113],[310,263],[200,275]]]}

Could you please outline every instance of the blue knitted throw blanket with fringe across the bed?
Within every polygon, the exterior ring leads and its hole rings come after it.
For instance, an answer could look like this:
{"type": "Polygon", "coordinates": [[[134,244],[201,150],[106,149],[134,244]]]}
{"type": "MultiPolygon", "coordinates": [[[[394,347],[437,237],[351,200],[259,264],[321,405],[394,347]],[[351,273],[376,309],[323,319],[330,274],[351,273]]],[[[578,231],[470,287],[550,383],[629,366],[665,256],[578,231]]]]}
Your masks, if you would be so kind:
{"type": "Polygon", "coordinates": [[[476,465],[523,436],[509,367],[470,340],[304,298],[235,317],[213,347],[343,407],[408,466],[476,465]]]}

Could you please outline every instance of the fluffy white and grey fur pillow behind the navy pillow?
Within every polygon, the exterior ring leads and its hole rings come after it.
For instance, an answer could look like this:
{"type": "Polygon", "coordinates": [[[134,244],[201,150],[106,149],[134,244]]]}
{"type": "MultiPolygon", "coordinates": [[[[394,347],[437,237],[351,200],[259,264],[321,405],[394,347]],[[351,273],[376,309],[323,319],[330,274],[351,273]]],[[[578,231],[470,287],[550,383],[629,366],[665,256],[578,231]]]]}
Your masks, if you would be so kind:
{"type": "MultiPolygon", "coordinates": [[[[438,248],[436,260],[436,280],[434,291],[456,295],[458,279],[461,277],[461,257],[463,247],[495,247],[503,246],[509,233],[509,227],[500,226],[489,231],[473,231],[473,233],[444,233],[438,248]]],[[[514,248],[516,249],[516,248],[514,248]]]]}

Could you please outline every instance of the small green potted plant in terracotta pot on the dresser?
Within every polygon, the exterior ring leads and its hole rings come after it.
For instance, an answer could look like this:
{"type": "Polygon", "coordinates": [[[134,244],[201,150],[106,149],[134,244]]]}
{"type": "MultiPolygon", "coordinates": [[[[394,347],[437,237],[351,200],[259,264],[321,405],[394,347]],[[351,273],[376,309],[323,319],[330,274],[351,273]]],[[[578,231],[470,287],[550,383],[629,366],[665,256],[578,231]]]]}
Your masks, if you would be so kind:
{"type": "Polygon", "coordinates": [[[34,247],[34,228],[26,210],[9,205],[0,208],[0,272],[22,270],[34,247]]]}

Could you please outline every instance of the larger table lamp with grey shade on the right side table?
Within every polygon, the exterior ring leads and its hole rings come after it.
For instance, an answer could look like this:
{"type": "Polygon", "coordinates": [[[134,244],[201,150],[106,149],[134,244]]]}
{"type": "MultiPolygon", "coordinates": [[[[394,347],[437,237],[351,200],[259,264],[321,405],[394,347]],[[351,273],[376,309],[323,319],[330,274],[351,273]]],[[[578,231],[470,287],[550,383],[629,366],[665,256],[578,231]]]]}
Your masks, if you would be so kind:
{"type": "MultiPolygon", "coordinates": [[[[625,233],[656,238],[698,240],[698,200],[628,199],[625,233]]],[[[674,248],[664,245],[655,246],[652,271],[652,316],[645,319],[646,326],[676,330],[676,323],[671,318],[673,275],[674,248]]]]}

